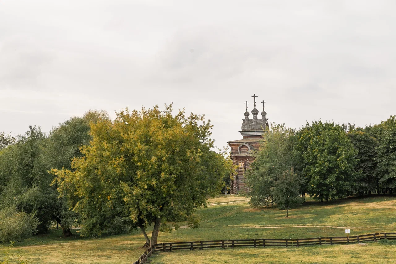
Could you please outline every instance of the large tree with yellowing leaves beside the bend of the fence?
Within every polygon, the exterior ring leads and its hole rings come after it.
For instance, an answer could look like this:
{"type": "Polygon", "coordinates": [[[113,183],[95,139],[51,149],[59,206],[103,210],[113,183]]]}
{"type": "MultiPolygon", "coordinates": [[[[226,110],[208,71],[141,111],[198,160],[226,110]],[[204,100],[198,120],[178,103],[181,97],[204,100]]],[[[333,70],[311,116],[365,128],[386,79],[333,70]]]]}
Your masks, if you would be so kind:
{"type": "Polygon", "coordinates": [[[172,111],[125,109],[114,121],[102,119],[72,170],[53,170],[61,196],[82,215],[83,235],[100,235],[117,220],[139,227],[150,243],[146,230],[154,224],[153,244],[160,228],[192,216],[221,189],[231,168],[211,151],[210,121],[172,111]]]}

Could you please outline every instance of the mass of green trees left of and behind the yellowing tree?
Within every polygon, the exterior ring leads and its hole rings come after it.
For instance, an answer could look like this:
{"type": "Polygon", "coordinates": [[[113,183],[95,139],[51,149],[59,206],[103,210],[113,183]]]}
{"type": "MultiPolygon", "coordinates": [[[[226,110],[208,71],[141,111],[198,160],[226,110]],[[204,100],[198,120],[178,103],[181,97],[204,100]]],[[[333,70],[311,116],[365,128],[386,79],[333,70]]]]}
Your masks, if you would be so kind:
{"type": "Polygon", "coordinates": [[[0,151],[0,209],[15,207],[34,214],[39,233],[46,232],[54,220],[63,228],[76,224],[76,212],[69,210],[64,198],[57,198],[56,186],[50,186],[54,176],[49,170],[71,168],[71,159],[81,157],[80,147],[91,140],[90,124],[99,117],[109,119],[103,111],[89,111],[59,124],[48,137],[36,126],[16,140],[0,134],[0,144],[8,146],[0,151]]]}

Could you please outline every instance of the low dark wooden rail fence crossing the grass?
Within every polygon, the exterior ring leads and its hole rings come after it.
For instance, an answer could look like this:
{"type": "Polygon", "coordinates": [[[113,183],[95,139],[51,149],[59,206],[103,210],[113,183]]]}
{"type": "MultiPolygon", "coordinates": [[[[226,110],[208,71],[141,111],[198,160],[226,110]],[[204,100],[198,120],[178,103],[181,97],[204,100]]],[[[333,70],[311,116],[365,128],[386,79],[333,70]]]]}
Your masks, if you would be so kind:
{"type": "Polygon", "coordinates": [[[209,249],[209,248],[234,248],[234,247],[300,247],[307,245],[340,245],[348,243],[376,242],[380,239],[396,239],[396,233],[373,233],[367,235],[354,235],[348,237],[313,237],[301,239],[233,239],[233,240],[208,240],[191,242],[169,242],[151,245],[145,253],[133,264],[142,264],[155,252],[174,251],[181,249],[209,249]]]}

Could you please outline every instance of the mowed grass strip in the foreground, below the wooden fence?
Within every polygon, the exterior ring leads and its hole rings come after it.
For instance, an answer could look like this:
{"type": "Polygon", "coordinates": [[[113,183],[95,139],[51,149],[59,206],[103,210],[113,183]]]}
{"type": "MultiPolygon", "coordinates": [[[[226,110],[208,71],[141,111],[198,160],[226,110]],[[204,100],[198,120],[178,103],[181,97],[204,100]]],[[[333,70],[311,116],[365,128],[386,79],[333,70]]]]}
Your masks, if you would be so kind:
{"type": "Polygon", "coordinates": [[[206,263],[396,263],[396,243],[383,245],[307,246],[173,251],[156,254],[152,264],[206,263]]]}

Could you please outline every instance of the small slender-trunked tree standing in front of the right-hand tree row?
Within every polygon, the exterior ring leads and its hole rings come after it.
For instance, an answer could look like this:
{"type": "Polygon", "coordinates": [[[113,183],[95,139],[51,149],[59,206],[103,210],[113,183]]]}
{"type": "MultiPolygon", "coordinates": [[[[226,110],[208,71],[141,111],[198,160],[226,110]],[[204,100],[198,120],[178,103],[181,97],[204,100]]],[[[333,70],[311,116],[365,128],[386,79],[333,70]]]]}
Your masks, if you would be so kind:
{"type": "Polygon", "coordinates": [[[286,217],[289,217],[291,207],[304,201],[299,193],[299,185],[299,176],[294,173],[293,169],[284,171],[274,182],[271,190],[274,202],[286,209],[286,217]]]}

